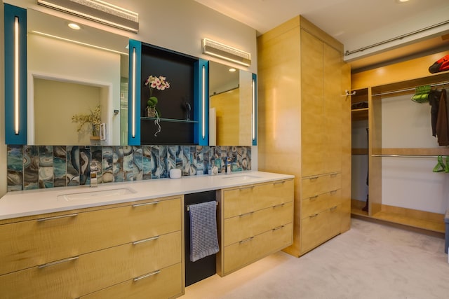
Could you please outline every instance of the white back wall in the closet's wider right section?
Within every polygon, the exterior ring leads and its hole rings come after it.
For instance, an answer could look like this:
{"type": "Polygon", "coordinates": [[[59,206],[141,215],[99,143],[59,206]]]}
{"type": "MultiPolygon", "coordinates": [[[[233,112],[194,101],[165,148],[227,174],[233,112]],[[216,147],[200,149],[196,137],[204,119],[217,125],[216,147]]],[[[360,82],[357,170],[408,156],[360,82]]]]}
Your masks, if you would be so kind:
{"type": "MultiPolygon", "coordinates": [[[[438,148],[428,103],[412,95],[382,99],[383,148],[438,148]]],[[[449,174],[432,172],[436,158],[382,158],[382,204],[444,214],[449,174]]]]}

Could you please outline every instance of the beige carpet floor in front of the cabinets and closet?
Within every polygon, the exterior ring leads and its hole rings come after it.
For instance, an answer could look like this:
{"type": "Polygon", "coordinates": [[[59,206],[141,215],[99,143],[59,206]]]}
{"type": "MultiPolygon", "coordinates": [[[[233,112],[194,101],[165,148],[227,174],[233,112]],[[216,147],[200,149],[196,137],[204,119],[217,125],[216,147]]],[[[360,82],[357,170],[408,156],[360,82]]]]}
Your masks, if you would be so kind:
{"type": "Polygon", "coordinates": [[[301,258],[275,253],[181,298],[447,299],[448,255],[444,239],[352,219],[351,230],[301,258]]]}

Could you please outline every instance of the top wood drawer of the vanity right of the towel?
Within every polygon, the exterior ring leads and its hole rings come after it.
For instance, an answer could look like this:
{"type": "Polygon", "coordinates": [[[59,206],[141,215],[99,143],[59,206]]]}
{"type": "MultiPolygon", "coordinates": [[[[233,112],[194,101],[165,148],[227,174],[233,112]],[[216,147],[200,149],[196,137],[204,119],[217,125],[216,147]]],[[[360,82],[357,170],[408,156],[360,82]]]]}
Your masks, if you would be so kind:
{"type": "Polygon", "coordinates": [[[293,201],[293,179],[223,190],[224,218],[293,201]]]}

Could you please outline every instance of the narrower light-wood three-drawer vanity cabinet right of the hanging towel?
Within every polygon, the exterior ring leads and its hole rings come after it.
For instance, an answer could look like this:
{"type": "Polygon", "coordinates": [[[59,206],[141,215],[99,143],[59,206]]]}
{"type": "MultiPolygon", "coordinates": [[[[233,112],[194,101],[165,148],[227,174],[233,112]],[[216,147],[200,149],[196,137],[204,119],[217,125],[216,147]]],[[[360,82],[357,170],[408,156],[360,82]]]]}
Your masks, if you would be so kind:
{"type": "Polygon", "coordinates": [[[220,276],[293,242],[293,179],[223,189],[217,199],[220,276]]]}

